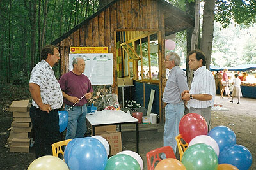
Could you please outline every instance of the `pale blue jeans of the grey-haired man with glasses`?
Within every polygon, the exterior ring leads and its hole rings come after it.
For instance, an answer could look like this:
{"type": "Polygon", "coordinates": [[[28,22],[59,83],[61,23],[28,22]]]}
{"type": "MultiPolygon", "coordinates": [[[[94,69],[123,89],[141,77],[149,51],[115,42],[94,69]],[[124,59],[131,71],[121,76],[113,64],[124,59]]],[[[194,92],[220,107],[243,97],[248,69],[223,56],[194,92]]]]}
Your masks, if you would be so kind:
{"type": "Polygon", "coordinates": [[[176,153],[177,141],[175,137],[179,134],[179,123],[184,115],[184,104],[167,104],[165,106],[164,124],[164,146],[171,146],[176,153]]]}

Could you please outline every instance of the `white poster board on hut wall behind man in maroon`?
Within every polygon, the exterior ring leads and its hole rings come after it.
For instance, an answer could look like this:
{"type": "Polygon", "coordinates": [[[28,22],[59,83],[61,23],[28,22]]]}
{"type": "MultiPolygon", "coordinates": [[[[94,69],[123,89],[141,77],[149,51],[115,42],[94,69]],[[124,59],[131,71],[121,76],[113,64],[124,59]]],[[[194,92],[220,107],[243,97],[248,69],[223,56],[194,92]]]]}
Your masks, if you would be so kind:
{"type": "Polygon", "coordinates": [[[69,71],[73,69],[72,62],[81,57],[85,61],[84,75],[92,85],[113,84],[113,54],[112,53],[74,53],[69,54],[69,71]]]}

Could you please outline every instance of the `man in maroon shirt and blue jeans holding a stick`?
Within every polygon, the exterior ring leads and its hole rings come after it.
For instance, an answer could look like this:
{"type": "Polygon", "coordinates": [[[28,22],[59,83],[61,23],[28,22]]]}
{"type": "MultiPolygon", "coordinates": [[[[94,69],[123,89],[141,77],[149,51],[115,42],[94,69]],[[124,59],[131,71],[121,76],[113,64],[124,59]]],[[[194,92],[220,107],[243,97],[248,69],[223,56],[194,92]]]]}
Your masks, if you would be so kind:
{"type": "Polygon", "coordinates": [[[91,81],[85,76],[85,62],[76,58],[72,62],[73,70],[61,76],[59,83],[64,97],[65,110],[77,103],[68,111],[68,126],[65,139],[83,138],[87,131],[86,114],[88,100],[92,98],[91,81]],[[84,97],[83,97],[84,96],[84,97]],[[81,99],[81,97],[83,97],[81,99]],[[79,99],[81,99],[79,101],[79,99]]]}

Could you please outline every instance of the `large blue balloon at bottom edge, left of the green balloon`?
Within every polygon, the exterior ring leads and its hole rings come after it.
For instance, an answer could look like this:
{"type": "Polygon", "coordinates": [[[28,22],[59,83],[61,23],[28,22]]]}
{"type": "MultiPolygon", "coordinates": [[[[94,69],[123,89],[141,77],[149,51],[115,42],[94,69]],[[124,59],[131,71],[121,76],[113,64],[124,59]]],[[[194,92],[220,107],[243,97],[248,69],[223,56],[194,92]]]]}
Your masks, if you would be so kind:
{"type": "Polygon", "coordinates": [[[104,170],[107,163],[107,153],[104,145],[95,138],[86,137],[76,141],[68,156],[70,170],[99,169],[104,170]]]}

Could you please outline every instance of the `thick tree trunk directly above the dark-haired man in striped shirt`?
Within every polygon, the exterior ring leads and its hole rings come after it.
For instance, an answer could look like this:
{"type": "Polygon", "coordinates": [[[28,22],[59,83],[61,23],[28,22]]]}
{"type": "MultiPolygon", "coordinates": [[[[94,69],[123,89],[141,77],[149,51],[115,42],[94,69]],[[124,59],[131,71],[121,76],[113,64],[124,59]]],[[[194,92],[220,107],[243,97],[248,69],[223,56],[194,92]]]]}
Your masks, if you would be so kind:
{"type": "Polygon", "coordinates": [[[215,0],[205,0],[200,49],[205,53],[207,69],[210,68],[211,63],[212,39],[214,30],[214,8],[215,0]]]}

